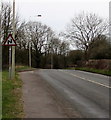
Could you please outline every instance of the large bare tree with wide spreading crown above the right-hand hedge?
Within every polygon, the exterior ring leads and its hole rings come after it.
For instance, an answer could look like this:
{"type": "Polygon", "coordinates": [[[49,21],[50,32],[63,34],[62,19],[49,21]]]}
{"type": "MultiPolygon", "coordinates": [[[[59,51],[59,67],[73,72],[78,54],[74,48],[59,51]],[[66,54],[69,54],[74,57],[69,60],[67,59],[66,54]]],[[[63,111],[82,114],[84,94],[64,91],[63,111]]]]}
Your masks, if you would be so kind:
{"type": "Polygon", "coordinates": [[[67,28],[66,37],[76,45],[77,48],[85,51],[85,59],[88,59],[89,45],[105,34],[108,24],[95,14],[79,14],[73,18],[67,28]]]}

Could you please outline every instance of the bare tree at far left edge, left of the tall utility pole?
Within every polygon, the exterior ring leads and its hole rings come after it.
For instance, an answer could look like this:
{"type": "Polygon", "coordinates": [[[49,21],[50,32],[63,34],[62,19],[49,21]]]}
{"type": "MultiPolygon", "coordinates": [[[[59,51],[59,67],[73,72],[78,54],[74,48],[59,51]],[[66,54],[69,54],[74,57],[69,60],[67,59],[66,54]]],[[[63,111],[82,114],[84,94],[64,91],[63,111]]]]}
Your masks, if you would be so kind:
{"type": "MultiPolygon", "coordinates": [[[[1,3],[1,11],[0,11],[0,22],[1,22],[1,30],[0,36],[1,41],[6,40],[9,33],[12,32],[12,9],[9,3],[1,3]]],[[[8,47],[2,47],[2,64],[3,67],[8,64],[8,47]]]]}

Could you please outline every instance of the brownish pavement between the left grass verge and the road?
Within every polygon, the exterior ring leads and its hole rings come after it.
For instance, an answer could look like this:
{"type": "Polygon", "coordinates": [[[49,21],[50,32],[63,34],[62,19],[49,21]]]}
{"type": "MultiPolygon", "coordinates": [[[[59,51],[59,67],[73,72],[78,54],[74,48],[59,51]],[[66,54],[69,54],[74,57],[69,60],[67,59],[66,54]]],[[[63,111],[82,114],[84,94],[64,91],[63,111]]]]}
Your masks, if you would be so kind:
{"type": "Polygon", "coordinates": [[[25,118],[70,118],[79,115],[39,76],[38,70],[20,72],[25,118]]]}

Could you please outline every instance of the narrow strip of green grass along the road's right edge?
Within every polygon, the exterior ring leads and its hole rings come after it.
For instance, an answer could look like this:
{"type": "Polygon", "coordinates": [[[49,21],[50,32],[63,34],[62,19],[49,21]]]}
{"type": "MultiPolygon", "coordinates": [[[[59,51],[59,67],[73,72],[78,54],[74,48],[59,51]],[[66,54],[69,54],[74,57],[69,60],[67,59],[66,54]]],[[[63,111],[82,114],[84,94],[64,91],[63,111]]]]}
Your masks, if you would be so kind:
{"type": "Polygon", "coordinates": [[[100,70],[100,69],[94,69],[94,68],[75,68],[75,70],[82,70],[82,71],[93,72],[93,73],[111,76],[111,70],[100,70]]]}

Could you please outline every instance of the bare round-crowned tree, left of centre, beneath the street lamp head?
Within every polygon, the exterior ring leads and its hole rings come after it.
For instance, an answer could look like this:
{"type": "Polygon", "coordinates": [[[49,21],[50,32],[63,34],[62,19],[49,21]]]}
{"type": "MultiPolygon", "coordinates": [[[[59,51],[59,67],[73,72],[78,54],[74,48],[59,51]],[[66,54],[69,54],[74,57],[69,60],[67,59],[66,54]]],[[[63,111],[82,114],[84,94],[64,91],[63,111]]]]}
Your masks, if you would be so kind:
{"type": "Polygon", "coordinates": [[[28,22],[26,27],[27,40],[31,43],[33,51],[35,51],[36,67],[40,65],[42,54],[48,52],[53,31],[47,25],[39,22],[28,22]]]}

